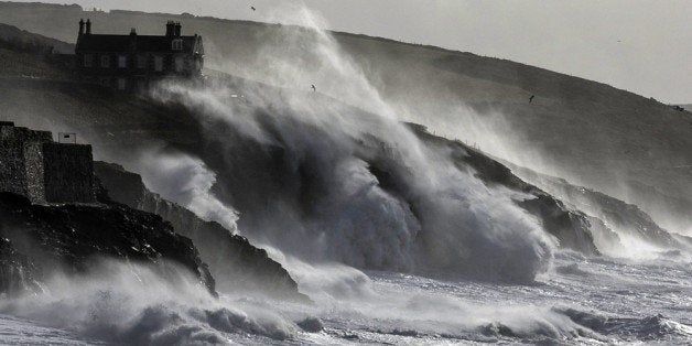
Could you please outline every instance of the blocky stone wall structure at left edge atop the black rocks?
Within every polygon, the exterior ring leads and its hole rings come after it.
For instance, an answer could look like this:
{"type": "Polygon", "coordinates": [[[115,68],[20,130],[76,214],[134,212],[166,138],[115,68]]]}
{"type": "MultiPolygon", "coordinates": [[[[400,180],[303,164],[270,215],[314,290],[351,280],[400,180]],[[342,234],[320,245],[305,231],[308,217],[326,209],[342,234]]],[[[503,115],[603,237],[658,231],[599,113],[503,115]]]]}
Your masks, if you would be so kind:
{"type": "Polygon", "coordinates": [[[50,131],[0,121],[0,192],[32,203],[96,202],[91,145],[56,143],[50,131]]]}

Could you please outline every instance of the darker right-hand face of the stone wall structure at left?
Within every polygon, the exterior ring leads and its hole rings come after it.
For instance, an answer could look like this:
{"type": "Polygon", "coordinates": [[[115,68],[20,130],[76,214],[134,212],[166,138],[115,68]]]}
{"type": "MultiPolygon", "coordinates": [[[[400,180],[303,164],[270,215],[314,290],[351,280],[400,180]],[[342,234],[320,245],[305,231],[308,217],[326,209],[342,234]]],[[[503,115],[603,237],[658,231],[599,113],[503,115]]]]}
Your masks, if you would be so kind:
{"type": "Polygon", "coordinates": [[[91,145],[43,143],[43,171],[47,202],[96,202],[91,145]]]}

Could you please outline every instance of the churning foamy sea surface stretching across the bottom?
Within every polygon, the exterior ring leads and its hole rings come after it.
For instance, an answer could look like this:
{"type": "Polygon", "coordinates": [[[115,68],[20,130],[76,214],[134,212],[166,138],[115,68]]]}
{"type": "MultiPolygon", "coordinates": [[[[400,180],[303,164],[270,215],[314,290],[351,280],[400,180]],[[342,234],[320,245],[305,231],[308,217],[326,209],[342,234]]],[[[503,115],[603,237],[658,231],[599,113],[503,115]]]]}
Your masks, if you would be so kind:
{"type": "MultiPolygon", "coordinates": [[[[692,342],[689,264],[689,259],[685,263],[666,256],[638,262],[560,253],[554,268],[534,284],[498,285],[288,260],[286,266],[301,290],[315,301],[312,305],[233,293],[221,294],[217,301],[199,291],[192,293],[190,290],[195,289],[190,286],[177,293],[167,290],[162,299],[151,299],[161,288],[150,289],[150,284],[119,289],[120,293],[116,294],[107,288],[123,284],[128,277],[118,271],[116,277],[120,279],[80,281],[89,283],[74,293],[65,293],[72,291],[62,286],[63,293],[57,296],[12,302],[14,313],[25,316],[0,316],[0,333],[8,344],[58,345],[113,342],[682,345],[692,342]],[[77,294],[82,298],[79,303],[77,294]],[[149,299],[136,298],[141,295],[149,299]],[[113,300],[123,304],[129,314],[113,313],[113,300]],[[51,318],[61,313],[60,322],[51,318]],[[303,331],[299,323],[306,318],[318,320],[322,331],[303,331]]],[[[139,275],[141,280],[142,272],[139,275]]],[[[7,310],[6,303],[3,311],[7,310]]]]}

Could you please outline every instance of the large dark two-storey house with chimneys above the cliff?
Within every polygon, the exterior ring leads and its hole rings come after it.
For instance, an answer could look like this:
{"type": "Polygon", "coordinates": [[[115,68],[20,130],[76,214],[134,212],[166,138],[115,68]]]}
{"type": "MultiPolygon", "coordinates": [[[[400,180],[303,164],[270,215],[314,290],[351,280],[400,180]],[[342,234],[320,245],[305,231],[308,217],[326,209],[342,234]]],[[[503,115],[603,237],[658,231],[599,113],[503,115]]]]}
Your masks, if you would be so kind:
{"type": "Polygon", "coordinates": [[[204,67],[202,36],[182,35],[169,21],[165,35],[94,34],[91,21],[79,21],[75,67],[80,76],[119,90],[137,90],[165,76],[194,77],[204,67]],[[86,29],[86,30],[85,30],[86,29]]]}

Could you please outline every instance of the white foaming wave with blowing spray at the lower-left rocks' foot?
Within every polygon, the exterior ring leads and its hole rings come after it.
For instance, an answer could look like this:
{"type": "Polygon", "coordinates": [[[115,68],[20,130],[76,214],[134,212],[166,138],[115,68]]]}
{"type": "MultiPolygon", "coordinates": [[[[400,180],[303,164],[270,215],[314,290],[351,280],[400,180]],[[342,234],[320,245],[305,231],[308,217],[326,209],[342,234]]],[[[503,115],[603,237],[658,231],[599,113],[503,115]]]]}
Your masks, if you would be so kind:
{"type": "Polygon", "coordinates": [[[102,261],[89,274],[56,274],[45,293],[3,300],[0,312],[128,345],[229,344],[247,334],[286,339],[299,331],[274,309],[223,303],[185,270],[164,266],[162,278],[145,266],[102,261]]]}

